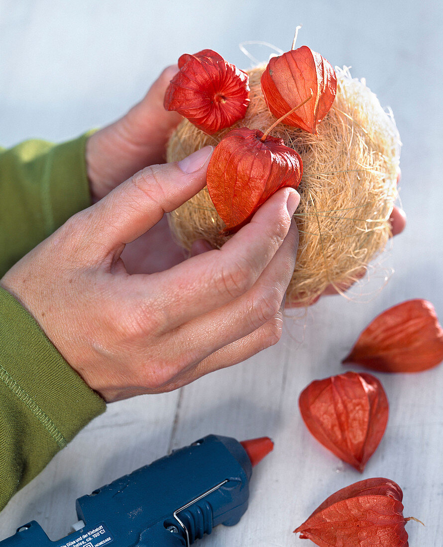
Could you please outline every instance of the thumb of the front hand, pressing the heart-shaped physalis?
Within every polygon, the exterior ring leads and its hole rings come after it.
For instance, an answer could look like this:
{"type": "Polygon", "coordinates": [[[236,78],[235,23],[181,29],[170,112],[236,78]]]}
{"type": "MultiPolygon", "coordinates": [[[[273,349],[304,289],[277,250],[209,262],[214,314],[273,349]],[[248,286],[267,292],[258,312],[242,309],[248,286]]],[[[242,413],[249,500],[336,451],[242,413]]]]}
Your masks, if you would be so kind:
{"type": "Polygon", "coordinates": [[[213,150],[206,146],[179,162],[146,167],[120,184],[91,207],[94,238],[112,248],[147,232],[204,188],[213,150]]]}

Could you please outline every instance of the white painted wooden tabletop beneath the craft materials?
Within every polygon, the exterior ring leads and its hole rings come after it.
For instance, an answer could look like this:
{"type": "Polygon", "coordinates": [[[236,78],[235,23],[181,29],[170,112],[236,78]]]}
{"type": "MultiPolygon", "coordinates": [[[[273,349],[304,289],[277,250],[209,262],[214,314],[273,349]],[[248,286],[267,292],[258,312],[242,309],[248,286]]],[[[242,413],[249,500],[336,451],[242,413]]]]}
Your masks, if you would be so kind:
{"type": "MultiPolygon", "coordinates": [[[[409,224],[377,271],[393,268],[365,302],[324,298],[306,318],[286,319],[277,346],[179,392],[110,405],[0,514],[0,539],[31,519],[51,539],[70,532],[75,499],[208,434],[269,435],[275,450],[255,469],[250,508],[207,547],[305,545],[292,530],[338,488],[362,476],[315,441],[297,408],[313,379],[342,371],[341,358],[373,317],[410,298],[432,301],[443,318],[442,138],[439,0],[352,2],[169,2],[0,0],[0,143],[61,141],[125,112],[183,52],[219,51],[247,68],[243,40],[300,45],[352,66],[393,108],[402,149],[401,201],[409,224]]],[[[257,48],[262,60],[268,50],[257,48]]],[[[383,270],[384,271],[384,270],[383,270]]],[[[377,276],[375,276],[377,277],[377,276]]],[[[380,276],[382,277],[382,276],[380,276]]],[[[363,478],[386,476],[404,491],[410,545],[443,544],[443,369],[378,375],[390,401],[387,432],[363,478]]]]}

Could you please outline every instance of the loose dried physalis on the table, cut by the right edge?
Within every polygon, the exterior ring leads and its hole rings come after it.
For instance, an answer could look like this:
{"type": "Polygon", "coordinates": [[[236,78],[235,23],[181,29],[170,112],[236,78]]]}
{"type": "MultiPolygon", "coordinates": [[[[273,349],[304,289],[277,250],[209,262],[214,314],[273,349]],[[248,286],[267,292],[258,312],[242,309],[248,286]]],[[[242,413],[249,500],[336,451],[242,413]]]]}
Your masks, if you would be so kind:
{"type": "Polygon", "coordinates": [[[384,311],[360,334],[343,363],[389,373],[430,369],[443,360],[443,329],[427,300],[402,302],[384,311]]]}

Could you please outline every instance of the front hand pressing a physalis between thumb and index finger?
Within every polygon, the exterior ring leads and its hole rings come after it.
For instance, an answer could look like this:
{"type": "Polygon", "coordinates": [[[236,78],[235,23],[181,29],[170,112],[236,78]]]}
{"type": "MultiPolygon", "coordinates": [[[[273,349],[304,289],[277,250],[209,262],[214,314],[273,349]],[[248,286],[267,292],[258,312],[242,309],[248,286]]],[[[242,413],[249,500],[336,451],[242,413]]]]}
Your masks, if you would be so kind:
{"type": "Polygon", "coordinates": [[[107,401],[170,391],[280,337],[298,246],[291,217],[300,196],[291,188],[221,249],[151,275],[129,275],[121,258],[128,242],[204,187],[210,152],[137,173],[1,280],[107,401]]]}

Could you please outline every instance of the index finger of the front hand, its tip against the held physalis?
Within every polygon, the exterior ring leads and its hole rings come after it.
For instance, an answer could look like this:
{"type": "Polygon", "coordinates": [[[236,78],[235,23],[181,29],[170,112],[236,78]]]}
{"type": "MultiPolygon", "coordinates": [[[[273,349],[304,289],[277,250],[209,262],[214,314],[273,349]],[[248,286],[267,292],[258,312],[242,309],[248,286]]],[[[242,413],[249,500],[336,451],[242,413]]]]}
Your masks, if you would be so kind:
{"type": "MultiPolygon", "coordinates": [[[[248,292],[285,240],[299,201],[294,189],[279,190],[221,249],[189,258],[158,276],[146,298],[159,302],[157,307],[164,310],[162,324],[174,329],[248,292]],[[289,203],[291,196],[293,203],[289,203]],[[174,306],[165,306],[164,302],[174,302],[174,306]]],[[[143,293],[144,281],[134,282],[136,292],[143,293]]]]}

